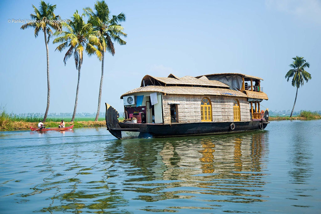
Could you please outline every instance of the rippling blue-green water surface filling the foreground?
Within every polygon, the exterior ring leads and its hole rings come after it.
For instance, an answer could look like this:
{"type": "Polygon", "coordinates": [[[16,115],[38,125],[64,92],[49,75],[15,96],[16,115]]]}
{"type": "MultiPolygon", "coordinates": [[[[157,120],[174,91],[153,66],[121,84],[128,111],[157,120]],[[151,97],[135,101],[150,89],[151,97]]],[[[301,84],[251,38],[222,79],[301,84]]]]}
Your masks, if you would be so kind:
{"type": "Polygon", "coordinates": [[[116,140],[106,128],[0,132],[0,213],[321,213],[321,120],[116,140]]]}

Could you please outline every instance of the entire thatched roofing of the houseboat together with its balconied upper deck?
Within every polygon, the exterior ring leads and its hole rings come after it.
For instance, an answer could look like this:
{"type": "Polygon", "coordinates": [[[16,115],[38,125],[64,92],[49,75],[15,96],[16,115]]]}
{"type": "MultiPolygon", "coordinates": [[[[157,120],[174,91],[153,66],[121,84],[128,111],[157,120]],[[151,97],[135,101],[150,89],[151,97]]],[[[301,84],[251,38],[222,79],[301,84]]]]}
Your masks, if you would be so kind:
{"type": "Polygon", "coordinates": [[[268,99],[261,87],[262,78],[242,73],[216,73],[197,77],[177,77],[169,74],[168,77],[153,77],[145,75],[140,88],[130,90],[124,96],[142,92],[158,92],[163,94],[203,94],[241,96],[248,101],[262,101],[268,99]]]}

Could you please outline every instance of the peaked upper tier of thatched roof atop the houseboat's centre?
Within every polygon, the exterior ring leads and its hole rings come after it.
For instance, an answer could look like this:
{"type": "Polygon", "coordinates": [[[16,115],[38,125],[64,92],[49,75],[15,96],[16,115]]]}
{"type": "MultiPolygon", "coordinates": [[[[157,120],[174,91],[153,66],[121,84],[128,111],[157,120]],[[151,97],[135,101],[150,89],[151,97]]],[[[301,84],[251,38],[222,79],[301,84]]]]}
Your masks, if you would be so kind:
{"type": "Polygon", "coordinates": [[[143,86],[200,86],[200,87],[220,87],[229,88],[230,86],[216,80],[209,80],[207,77],[195,78],[191,76],[177,77],[169,74],[168,77],[153,77],[146,75],[143,77],[141,87],[143,86]]]}

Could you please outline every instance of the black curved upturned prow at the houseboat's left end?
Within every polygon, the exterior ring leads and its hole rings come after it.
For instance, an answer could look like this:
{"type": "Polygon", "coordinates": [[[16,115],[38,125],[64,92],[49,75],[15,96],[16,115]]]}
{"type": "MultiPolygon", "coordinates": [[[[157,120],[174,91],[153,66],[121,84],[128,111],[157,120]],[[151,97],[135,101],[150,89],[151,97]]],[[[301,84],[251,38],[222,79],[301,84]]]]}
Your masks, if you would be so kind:
{"type": "Polygon", "coordinates": [[[108,131],[114,135],[116,138],[121,139],[121,128],[119,126],[119,113],[118,111],[110,106],[108,103],[106,104],[106,125],[108,131]]]}

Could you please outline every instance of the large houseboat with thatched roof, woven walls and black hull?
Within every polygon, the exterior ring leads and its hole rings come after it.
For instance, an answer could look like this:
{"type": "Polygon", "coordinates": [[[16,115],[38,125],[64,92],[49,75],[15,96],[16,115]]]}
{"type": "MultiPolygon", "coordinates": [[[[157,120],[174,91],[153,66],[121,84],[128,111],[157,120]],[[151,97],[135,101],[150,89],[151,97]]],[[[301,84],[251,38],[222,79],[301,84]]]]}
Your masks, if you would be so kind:
{"type": "Polygon", "coordinates": [[[118,139],[178,137],[265,129],[268,100],[262,78],[242,73],[143,77],[139,88],[121,95],[125,119],[106,103],[108,131],[118,139]]]}

